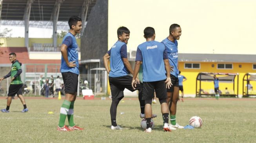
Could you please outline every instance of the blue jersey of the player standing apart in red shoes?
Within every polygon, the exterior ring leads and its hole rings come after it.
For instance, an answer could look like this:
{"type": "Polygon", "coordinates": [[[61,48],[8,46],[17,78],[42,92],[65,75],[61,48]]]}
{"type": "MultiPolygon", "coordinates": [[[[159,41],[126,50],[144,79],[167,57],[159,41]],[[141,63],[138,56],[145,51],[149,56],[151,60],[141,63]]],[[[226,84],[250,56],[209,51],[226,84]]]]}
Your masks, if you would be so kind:
{"type": "Polygon", "coordinates": [[[69,62],[75,61],[76,67],[70,68],[67,66],[63,56],[61,56],[61,66],[60,72],[71,72],[79,75],[79,63],[78,63],[78,45],[76,43],[76,38],[73,34],[68,32],[62,40],[62,44],[67,45],[67,57],[69,62]]]}

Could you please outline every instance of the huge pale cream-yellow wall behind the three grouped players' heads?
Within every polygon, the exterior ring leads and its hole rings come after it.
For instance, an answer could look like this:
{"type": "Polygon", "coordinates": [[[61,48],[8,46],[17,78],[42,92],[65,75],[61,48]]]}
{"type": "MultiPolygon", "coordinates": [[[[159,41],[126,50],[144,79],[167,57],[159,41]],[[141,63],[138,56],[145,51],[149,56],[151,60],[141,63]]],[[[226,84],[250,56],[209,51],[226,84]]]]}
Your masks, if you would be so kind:
{"type": "Polygon", "coordinates": [[[256,54],[256,0],[109,0],[108,12],[109,48],[120,26],[131,31],[129,51],[145,41],[145,27],[162,41],[178,23],[180,53],[256,54]]]}

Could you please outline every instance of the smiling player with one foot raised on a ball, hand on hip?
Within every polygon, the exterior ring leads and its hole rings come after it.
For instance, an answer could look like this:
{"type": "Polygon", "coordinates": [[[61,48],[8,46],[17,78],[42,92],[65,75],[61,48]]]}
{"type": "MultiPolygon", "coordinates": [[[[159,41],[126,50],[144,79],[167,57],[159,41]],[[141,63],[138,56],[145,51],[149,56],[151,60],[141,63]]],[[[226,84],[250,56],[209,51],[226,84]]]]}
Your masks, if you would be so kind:
{"type": "MultiPolygon", "coordinates": [[[[109,73],[109,84],[112,95],[112,103],[110,107],[111,115],[111,129],[121,130],[122,128],[116,124],[116,109],[120,100],[122,100],[123,90],[126,88],[130,91],[139,91],[139,101],[140,101],[140,118],[145,118],[144,106],[145,103],[142,100],[142,84],[140,84],[139,79],[136,89],[133,89],[131,82],[133,77],[128,75],[127,70],[133,75],[133,69],[131,64],[127,59],[127,43],[130,38],[130,31],[126,27],[119,27],[117,29],[118,41],[114,43],[111,49],[103,56],[104,66],[109,73]],[[109,70],[109,60],[110,60],[110,69],[109,70]]],[[[152,100],[152,99],[151,99],[152,100]]],[[[156,115],[153,114],[153,118],[156,115]]]]}

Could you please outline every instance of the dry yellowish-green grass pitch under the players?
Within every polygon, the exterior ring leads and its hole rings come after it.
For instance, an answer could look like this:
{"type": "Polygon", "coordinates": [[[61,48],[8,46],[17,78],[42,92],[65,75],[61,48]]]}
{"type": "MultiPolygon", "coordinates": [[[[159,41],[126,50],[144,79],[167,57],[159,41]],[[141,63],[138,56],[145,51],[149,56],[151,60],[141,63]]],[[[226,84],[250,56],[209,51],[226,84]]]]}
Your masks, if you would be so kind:
{"type": "MultiPolygon", "coordinates": [[[[111,130],[110,100],[77,100],[74,106],[74,121],[83,131],[58,132],[60,105],[63,100],[27,99],[28,113],[20,100],[13,100],[10,113],[0,113],[0,142],[134,142],[134,143],[249,143],[255,142],[255,100],[186,100],[178,103],[176,120],[187,125],[191,116],[200,116],[201,129],[178,129],[163,132],[160,104],[153,104],[155,128],[145,133],[140,127],[138,100],[120,102],[117,123],[123,130],[111,130]],[[47,114],[53,111],[54,114],[47,114]],[[124,112],[124,114],[120,114],[124,112]]],[[[0,100],[0,108],[6,107],[6,100],[0,100]]],[[[67,122],[67,120],[66,120],[67,122]]],[[[66,123],[67,124],[67,123],[66,123]]]]}

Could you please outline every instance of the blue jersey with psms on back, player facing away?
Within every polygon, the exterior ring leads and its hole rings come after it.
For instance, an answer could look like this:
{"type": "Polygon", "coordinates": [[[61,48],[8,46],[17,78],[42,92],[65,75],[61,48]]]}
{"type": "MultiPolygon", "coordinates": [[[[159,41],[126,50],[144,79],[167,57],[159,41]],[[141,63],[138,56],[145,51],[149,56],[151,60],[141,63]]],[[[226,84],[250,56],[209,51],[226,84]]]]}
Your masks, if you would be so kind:
{"type": "Polygon", "coordinates": [[[143,82],[166,79],[163,59],[168,59],[163,43],[146,41],[138,46],[135,61],[142,61],[143,82]]]}

